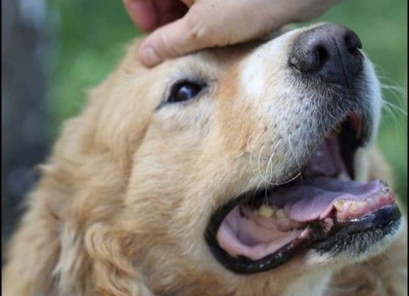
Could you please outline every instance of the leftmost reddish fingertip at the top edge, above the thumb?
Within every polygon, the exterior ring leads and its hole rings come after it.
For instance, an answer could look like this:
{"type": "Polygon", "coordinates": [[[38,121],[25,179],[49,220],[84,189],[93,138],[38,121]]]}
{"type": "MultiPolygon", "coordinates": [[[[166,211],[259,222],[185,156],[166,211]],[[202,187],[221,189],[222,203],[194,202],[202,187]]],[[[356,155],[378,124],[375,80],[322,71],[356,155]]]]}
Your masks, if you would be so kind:
{"type": "Polygon", "coordinates": [[[125,9],[142,31],[153,31],[159,26],[159,15],[154,0],[123,0],[125,9]]]}

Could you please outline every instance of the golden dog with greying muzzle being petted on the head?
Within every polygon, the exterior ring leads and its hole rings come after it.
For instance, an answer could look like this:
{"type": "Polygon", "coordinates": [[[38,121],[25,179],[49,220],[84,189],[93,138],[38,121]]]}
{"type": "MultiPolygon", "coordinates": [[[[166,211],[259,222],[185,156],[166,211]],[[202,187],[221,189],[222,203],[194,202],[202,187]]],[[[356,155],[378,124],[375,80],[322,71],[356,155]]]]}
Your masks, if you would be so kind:
{"type": "Polygon", "coordinates": [[[381,90],[319,23],[144,68],[139,41],[65,123],[4,295],[404,295],[381,90]]]}

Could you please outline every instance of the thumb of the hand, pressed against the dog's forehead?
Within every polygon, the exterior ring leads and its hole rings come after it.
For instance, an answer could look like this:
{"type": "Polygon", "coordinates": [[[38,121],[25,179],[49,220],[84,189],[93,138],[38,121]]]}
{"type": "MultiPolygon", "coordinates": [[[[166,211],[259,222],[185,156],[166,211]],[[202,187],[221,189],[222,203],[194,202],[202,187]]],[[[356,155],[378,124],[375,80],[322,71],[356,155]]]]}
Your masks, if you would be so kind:
{"type": "Polygon", "coordinates": [[[213,46],[207,44],[210,42],[207,36],[208,30],[204,23],[192,21],[186,14],[183,18],[157,28],[147,36],[139,48],[139,58],[144,65],[152,67],[166,58],[213,46]],[[204,41],[207,43],[204,44],[204,41]]]}

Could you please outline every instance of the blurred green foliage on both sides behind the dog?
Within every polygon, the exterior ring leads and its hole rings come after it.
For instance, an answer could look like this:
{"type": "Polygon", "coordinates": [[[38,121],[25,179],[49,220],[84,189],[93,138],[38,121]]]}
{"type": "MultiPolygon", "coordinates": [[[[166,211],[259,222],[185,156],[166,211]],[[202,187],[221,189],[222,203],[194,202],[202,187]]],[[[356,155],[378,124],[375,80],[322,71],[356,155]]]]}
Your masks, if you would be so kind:
{"type": "MultiPolygon", "coordinates": [[[[67,117],[78,113],[86,90],[97,85],[114,67],[126,45],[139,31],[122,1],[60,0],[50,3],[60,20],[60,53],[51,73],[51,137],[67,117]]],[[[317,21],[341,23],[363,41],[363,49],[383,84],[387,105],[378,146],[393,165],[397,191],[407,202],[407,2],[405,0],[343,1],[317,21]]]]}

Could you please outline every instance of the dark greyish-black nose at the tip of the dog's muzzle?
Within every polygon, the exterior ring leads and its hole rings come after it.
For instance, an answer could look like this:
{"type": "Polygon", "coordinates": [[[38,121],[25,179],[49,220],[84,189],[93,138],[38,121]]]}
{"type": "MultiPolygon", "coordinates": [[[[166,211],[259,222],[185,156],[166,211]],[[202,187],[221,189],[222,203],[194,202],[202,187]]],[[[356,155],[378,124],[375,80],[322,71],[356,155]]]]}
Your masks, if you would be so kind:
{"type": "Polygon", "coordinates": [[[328,83],[351,88],[362,70],[361,40],[336,24],[325,24],[302,33],[290,53],[290,65],[328,83]]]}

